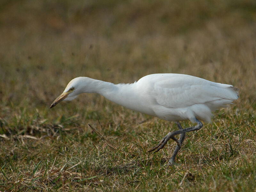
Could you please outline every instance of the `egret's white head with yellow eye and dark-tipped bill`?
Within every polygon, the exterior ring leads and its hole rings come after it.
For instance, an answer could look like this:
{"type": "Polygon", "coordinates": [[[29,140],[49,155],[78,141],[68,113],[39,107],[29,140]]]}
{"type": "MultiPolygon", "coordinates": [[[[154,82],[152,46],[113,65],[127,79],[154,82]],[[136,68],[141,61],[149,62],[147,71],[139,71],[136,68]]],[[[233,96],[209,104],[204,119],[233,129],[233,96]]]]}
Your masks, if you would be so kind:
{"type": "Polygon", "coordinates": [[[82,93],[82,84],[81,84],[81,79],[82,77],[76,77],[75,79],[72,79],[65,90],[63,91],[62,94],[60,94],[59,97],[57,97],[53,102],[50,108],[54,107],[57,105],[60,101],[65,100],[65,101],[71,101],[73,99],[76,99],[76,97],[82,93]]]}

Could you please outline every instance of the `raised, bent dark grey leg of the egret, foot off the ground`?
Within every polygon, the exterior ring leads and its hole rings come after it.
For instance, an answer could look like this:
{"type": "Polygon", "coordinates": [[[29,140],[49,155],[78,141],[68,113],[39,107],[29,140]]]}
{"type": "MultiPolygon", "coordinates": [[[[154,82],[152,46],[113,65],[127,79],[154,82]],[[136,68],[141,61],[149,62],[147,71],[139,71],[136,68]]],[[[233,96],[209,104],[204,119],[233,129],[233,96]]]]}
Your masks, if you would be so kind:
{"type": "MultiPolygon", "coordinates": [[[[148,150],[148,152],[151,152],[151,151],[154,151],[154,150],[156,150],[154,153],[158,152],[160,149],[162,149],[164,147],[164,145],[167,143],[167,141],[170,140],[175,135],[190,132],[190,131],[197,131],[197,130],[201,129],[203,127],[202,122],[199,121],[196,118],[195,118],[195,121],[197,123],[196,126],[188,127],[188,128],[185,128],[185,129],[182,129],[182,128],[180,129],[181,126],[178,125],[180,130],[177,130],[177,131],[174,131],[174,132],[169,132],[167,135],[164,136],[164,138],[158,143],[158,145],[156,147],[150,148],[148,150]]],[[[184,138],[182,138],[182,135],[181,135],[180,140],[182,140],[182,142],[183,142],[184,139],[185,139],[185,136],[184,136],[184,138]]]]}

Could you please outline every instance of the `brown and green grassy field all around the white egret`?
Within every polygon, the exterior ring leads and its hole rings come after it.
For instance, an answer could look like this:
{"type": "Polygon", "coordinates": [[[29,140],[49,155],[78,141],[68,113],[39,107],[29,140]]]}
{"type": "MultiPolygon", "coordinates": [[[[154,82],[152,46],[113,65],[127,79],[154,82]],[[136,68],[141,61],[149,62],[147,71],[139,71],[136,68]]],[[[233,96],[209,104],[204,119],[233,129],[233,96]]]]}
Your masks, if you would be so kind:
{"type": "MultiPolygon", "coordinates": [[[[0,2],[0,191],[256,191],[256,3],[0,2]],[[74,77],[183,73],[240,98],[176,146],[176,124],[96,94],[49,109],[74,77]]],[[[192,125],[181,122],[183,127],[192,125]]]]}

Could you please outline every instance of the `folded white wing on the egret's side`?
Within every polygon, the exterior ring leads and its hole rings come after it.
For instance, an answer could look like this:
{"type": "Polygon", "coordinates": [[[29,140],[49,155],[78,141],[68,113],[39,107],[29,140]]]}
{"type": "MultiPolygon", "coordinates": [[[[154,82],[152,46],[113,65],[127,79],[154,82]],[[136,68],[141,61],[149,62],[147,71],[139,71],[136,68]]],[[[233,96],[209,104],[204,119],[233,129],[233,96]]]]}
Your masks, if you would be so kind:
{"type": "Polygon", "coordinates": [[[222,99],[221,85],[224,84],[193,76],[174,76],[156,81],[153,94],[159,105],[168,108],[184,108],[193,104],[222,99]]]}

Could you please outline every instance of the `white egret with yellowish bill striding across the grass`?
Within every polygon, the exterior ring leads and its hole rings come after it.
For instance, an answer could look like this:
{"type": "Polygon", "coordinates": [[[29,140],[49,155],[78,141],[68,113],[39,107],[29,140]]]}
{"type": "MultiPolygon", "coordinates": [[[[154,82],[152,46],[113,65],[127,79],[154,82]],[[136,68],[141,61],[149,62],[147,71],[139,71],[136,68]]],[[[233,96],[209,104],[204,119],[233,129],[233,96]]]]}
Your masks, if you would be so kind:
{"type": "Polygon", "coordinates": [[[214,83],[199,77],[183,74],[151,74],[132,84],[113,84],[89,77],[72,79],[64,92],[50,108],[62,100],[73,100],[80,93],[99,93],[108,100],[144,114],[174,121],[179,130],[169,132],[159,144],[148,150],[158,152],[168,140],[177,142],[169,165],[185,139],[185,133],[202,128],[210,122],[212,110],[227,107],[238,99],[238,89],[232,85],[214,83]],[[190,120],[196,126],[182,129],[179,121],[190,120]],[[180,134],[180,139],[174,136],[180,134]]]}

